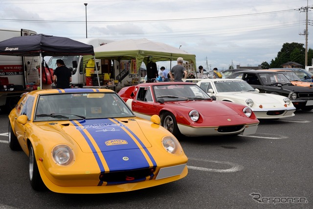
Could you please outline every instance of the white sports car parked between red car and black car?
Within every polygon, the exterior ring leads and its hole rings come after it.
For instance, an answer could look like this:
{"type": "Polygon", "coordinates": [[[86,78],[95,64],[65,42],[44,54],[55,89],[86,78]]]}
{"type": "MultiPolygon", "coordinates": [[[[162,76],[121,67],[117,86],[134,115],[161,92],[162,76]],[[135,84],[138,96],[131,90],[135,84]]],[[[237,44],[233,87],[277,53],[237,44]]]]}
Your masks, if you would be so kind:
{"type": "Polygon", "coordinates": [[[229,101],[246,105],[258,119],[276,119],[294,116],[296,110],[288,97],[259,93],[241,79],[203,79],[198,86],[218,101],[229,101]]]}

